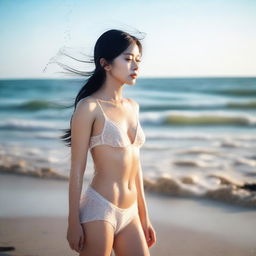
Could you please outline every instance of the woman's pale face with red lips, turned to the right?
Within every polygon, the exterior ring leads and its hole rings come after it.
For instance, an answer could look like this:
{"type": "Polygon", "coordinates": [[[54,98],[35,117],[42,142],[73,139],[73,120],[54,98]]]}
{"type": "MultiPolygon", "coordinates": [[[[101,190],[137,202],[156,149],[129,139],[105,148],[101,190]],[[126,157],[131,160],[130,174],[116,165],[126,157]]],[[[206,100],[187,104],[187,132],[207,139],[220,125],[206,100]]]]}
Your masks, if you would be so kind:
{"type": "Polygon", "coordinates": [[[109,73],[122,84],[133,85],[138,76],[140,61],[139,47],[136,43],[133,43],[114,59],[109,73]],[[132,74],[135,75],[131,76],[132,74]]]}

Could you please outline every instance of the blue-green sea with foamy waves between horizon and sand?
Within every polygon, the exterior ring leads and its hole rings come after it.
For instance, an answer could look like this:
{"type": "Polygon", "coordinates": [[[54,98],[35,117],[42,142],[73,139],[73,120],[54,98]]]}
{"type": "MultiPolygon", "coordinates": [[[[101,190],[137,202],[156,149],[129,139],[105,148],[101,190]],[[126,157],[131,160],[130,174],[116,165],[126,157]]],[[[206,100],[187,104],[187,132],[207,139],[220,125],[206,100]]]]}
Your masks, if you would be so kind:
{"type": "MultiPolygon", "coordinates": [[[[66,179],[69,128],[85,79],[0,80],[0,172],[66,179]]],[[[138,78],[145,190],[256,208],[256,78],[138,78]]],[[[88,151],[84,179],[93,162],[88,151]]]]}

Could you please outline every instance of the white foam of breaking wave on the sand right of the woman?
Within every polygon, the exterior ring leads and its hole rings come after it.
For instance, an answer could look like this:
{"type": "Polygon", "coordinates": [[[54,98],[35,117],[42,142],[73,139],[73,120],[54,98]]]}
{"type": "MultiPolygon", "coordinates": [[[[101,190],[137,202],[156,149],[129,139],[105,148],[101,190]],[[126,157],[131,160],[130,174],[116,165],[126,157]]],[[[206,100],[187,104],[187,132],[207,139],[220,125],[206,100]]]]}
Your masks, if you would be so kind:
{"type": "Polygon", "coordinates": [[[144,178],[145,189],[151,192],[182,197],[205,197],[232,204],[256,207],[256,192],[244,189],[245,183],[228,175],[210,174],[174,177],[163,174],[155,179],[144,178]]]}

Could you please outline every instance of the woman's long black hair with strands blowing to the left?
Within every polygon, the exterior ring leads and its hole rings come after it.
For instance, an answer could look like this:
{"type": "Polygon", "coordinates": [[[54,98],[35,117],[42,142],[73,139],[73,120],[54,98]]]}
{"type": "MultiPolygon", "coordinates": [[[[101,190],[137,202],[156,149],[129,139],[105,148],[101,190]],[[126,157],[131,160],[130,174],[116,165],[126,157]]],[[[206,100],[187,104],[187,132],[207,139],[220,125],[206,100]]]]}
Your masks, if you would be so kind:
{"type": "MultiPolygon", "coordinates": [[[[101,88],[103,83],[106,80],[106,71],[104,66],[107,64],[112,64],[113,60],[119,56],[122,52],[124,52],[132,43],[137,44],[139,47],[139,51],[142,55],[142,45],[139,39],[136,36],[131,35],[130,33],[124,32],[122,30],[111,29],[104,32],[96,41],[94,46],[94,55],[93,60],[91,61],[83,61],[83,62],[94,62],[95,69],[89,72],[81,72],[76,69],[70,68],[66,65],[62,65],[65,70],[68,70],[71,73],[75,73],[82,76],[89,76],[85,85],[79,90],[75,102],[71,107],[74,107],[74,111],[76,109],[77,103],[96,92],[101,88]],[[100,59],[104,58],[107,63],[105,65],[100,64],[100,59]]],[[[69,56],[70,57],[70,56],[69,56]]],[[[71,57],[72,58],[72,57],[71,57]]],[[[74,113],[73,111],[73,113],[74,113]]],[[[63,129],[64,134],[60,136],[60,139],[64,141],[66,146],[71,147],[71,122],[72,117],[70,119],[70,128],[63,129]]]]}

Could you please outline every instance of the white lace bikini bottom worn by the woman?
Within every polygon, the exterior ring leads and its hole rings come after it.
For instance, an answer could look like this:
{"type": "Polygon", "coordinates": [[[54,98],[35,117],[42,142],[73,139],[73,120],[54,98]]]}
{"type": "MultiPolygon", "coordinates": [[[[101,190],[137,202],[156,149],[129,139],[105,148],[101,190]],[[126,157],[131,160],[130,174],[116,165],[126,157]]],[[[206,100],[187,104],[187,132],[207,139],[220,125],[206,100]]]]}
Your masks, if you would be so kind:
{"type": "Polygon", "coordinates": [[[137,200],[129,208],[119,208],[90,185],[80,200],[80,223],[104,220],[114,228],[114,234],[120,232],[138,214],[137,200]]]}

